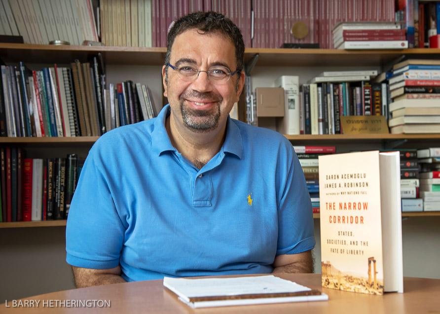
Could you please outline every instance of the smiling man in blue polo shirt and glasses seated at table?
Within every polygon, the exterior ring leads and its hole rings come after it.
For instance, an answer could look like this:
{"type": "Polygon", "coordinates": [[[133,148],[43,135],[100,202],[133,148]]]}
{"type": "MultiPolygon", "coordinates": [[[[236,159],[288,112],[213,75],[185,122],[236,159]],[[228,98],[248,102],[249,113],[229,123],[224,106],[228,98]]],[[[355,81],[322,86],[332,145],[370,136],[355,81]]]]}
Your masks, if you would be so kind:
{"type": "Polygon", "coordinates": [[[310,198],[292,144],[230,119],[244,43],[223,15],[182,17],[162,68],[158,117],[103,135],[69,212],[76,285],[311,272],[310,198]]]}

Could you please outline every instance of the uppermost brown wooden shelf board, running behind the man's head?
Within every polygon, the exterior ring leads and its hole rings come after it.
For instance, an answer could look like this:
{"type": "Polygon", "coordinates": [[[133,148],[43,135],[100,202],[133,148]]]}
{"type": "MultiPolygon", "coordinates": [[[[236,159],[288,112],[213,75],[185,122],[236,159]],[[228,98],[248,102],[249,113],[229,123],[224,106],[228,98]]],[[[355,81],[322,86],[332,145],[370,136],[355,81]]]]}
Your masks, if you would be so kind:
{"type": "MultiPolygon", "coordinates": [[[[71,63],[101,52],[106,64],[161,66],[165,47],[53,46],[0,43],[0,58],[7,62],[71,63]]],[[[383,66],[403,55],[436,58],[440,49],[340,50],[247,48],[245,63],[258,54],[257,66],[383,66]]]]}

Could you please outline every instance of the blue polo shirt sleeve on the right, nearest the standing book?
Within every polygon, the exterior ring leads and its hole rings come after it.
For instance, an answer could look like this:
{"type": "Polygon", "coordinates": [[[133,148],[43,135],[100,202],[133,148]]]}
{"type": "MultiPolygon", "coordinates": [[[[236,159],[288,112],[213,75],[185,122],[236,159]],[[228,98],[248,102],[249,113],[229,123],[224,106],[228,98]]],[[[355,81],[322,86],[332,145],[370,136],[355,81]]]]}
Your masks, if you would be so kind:
{"type": "Polygon", "coordinates": [[[315,247],[313,212],[304,174],[292,144],[287,149],[286,174],[281,177],[276,255],[296,254],[315,247]]]}

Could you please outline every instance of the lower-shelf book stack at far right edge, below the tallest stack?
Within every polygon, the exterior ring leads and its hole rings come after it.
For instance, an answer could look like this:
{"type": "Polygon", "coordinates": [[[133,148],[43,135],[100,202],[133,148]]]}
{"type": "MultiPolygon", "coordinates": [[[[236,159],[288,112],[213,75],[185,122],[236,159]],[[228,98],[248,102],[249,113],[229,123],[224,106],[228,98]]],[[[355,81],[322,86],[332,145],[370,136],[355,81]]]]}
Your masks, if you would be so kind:
{"type": "Polygon", "coordinates": [[[440,147],[417,150],[421,164],[420,195],[425,211],[440,211],[440,147]]]}

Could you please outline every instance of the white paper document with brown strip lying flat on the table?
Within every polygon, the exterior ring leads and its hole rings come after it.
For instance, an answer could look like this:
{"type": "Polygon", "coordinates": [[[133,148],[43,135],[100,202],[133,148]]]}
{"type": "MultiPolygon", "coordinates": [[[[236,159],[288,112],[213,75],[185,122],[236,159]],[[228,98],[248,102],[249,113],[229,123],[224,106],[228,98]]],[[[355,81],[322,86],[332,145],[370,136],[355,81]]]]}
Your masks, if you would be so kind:
{"type": "Polygon", "coordinates": [[[191,308],[329,299],[321,291],[272,275],[203,279],[165,277],[163,285],[191,308]]]}

